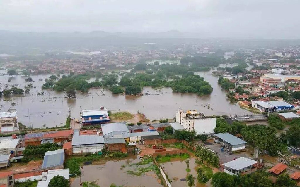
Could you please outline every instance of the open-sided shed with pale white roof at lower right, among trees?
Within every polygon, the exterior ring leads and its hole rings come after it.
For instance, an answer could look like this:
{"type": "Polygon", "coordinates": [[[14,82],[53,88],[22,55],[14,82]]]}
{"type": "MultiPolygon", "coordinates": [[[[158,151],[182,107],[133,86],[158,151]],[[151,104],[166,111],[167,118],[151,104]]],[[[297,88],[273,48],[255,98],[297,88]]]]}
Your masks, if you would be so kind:
{"type": "Polygon", "coordinates": [[[240,173],[246,173],[251,171],[253,165],[257,162],[255,160],[240,157],[238,159],[232,160],[230,162],[224,163],[224,172],[230,175],[238,175],[240,173]]]}

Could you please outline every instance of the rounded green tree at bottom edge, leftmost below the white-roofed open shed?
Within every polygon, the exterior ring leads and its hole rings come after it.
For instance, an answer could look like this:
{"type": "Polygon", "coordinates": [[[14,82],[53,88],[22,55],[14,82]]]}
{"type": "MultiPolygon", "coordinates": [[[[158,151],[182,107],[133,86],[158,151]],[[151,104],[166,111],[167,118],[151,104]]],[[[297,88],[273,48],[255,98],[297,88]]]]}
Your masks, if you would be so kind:
{"type": "Polygon", "coordinates": [[[213,187],[233,187],[235,186],[235,180],[232,175],[224,172],[217,172],[212,176],[211,184],[213,187]]]}

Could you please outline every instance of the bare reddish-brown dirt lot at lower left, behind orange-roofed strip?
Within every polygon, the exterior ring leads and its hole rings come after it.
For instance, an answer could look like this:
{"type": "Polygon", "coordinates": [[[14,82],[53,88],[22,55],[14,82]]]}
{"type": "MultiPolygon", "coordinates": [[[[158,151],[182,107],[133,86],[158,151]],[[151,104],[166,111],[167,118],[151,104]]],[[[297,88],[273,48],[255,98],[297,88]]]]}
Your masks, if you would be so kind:
{"type": "Polygon", "coordinates": [[[33,171],[41,169],[43,160],[34,160],[30,161],[27,164],[24,163],[12,163],[7,169],[0,170],[0,173],[6,171],[13,171],[14,173],[23,172],[23,171],[33,171]]]}

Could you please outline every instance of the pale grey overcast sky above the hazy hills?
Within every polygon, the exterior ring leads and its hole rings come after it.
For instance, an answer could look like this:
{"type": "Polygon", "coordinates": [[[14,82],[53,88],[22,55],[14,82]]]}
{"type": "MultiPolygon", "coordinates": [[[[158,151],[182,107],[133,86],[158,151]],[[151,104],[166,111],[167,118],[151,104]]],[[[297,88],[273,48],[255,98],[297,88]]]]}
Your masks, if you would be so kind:
{"type": "Polygon", "coordinates": [[[0,30],[300,38],[300,0],[0,0],[0,30]]]}

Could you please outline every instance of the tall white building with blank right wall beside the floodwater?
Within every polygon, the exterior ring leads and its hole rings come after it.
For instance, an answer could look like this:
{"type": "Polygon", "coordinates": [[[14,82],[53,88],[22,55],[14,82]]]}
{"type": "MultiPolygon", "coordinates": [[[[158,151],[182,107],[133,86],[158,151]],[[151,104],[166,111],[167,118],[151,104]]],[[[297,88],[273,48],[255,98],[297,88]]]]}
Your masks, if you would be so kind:
{"type": "Polygon", "coordinates": [[[176,112],[176,122],[180,123],[186,130],[195,130],[197,134],[211,135],[216,128],[216,118],[206,117],[196,110],[184,111],[181,108],[176,112]]]}

